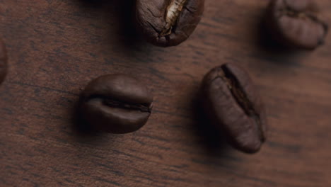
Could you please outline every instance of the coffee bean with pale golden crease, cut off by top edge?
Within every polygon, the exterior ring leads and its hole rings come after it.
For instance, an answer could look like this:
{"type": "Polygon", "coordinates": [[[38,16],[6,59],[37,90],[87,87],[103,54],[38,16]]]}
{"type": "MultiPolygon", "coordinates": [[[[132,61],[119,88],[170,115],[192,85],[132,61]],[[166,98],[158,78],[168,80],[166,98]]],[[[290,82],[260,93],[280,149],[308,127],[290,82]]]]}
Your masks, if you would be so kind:
{"type": "Polygon", "coordinates": [[[204,0],[137,0],[137,27],[153,45],[179,45],[193,33],[203,11],[204,0]]]}

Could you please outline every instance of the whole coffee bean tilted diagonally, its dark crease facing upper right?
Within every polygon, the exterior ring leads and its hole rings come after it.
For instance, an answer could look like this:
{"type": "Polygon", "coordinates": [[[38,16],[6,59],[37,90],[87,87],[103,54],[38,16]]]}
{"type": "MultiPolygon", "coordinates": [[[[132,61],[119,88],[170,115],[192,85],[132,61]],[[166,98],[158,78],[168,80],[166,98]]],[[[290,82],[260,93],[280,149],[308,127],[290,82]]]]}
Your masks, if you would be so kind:
{"type": "Polygon", "coordinates": [[[266,115],[248,74],[235,64],[215,67],[202,84],[204,110],[229,142],[247,153],[260,150],[266,139],[266,115]]]}

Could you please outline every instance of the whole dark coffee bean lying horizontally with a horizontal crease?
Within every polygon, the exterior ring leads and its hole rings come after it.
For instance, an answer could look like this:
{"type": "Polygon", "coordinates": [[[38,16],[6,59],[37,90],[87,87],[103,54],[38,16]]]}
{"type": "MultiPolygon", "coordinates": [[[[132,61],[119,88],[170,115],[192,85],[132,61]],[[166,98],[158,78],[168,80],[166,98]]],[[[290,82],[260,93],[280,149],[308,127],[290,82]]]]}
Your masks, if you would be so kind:
{"type": "Polygon", "coordinates": [[[151,115],[153,96],[144,84],[124,74],[91,81],[81,94],[82,118],[98,130],[122,134],[139,130],[151,115]]]}

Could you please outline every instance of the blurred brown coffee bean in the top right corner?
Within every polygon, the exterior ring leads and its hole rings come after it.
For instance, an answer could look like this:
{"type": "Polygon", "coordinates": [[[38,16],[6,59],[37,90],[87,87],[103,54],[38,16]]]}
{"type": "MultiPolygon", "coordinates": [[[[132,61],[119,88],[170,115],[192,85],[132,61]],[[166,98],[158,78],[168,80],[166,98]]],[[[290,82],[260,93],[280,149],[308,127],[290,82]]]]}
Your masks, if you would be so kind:
{"type": "Polygon", "coordinates": [[[306,50],[323,45],[328,30],[313,0],[272,0],[266,21],[274,39],[306,50]]]}

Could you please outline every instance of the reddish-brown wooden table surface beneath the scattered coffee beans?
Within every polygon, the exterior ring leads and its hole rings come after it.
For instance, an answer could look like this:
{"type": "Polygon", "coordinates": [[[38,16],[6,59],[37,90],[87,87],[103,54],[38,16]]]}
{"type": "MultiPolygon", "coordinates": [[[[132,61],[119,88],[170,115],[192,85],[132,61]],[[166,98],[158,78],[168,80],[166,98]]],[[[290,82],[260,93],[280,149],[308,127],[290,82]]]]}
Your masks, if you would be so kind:
{"type": "MultiPolygon", "coordinates": [[[[331,1],[318,1],[330,23],[331,1]]],[[[132,26],[132,0],[1,0],[10,72],[0,87],[0,186],[331,186],[331,34],[313,52],[272,45],[267,0],[206,0],[193,35],[154,47],[132,26]],[[269,140],[231,149],[197,105],[203,75],[247,68],[265,100],[269,140]],[[132,74],[155,96],[141,130],[81,132],[81,89],[132,74]]]]}

